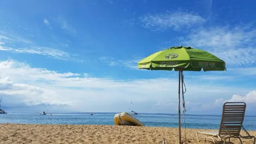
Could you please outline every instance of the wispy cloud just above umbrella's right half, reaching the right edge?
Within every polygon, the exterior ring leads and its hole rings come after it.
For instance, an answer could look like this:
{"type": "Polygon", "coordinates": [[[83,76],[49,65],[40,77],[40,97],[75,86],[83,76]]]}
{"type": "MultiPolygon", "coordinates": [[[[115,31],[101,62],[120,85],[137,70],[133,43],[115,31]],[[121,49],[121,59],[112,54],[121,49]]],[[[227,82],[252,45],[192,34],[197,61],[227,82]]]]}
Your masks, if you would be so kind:
{"type": "Polygon", "coordinates": [[[241,44],[255,44],[256,29],[243,26],[194,29],[184,43],[195,47],[234,49],[241,44]]]}

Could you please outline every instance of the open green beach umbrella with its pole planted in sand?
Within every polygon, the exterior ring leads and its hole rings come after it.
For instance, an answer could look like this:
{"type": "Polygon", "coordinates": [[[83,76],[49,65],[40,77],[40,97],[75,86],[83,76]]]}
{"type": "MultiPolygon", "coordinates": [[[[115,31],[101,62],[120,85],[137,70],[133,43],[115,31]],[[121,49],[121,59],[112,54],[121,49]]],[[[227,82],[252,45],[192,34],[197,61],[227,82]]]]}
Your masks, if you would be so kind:
{"type": "MultiPolygon", "coordinates": [[[[138,62],[139,69],[179,71],[178,86],[178,114],[179,114],[179,143],[181,144],[180,123],[180,81],[183,71],[224,71],[225,62],[215,55],[192,47],[170,47],[166,50],[156,52],[138,62]]],[[[182,79],[183,81],[183,79],[182,79]]]]}

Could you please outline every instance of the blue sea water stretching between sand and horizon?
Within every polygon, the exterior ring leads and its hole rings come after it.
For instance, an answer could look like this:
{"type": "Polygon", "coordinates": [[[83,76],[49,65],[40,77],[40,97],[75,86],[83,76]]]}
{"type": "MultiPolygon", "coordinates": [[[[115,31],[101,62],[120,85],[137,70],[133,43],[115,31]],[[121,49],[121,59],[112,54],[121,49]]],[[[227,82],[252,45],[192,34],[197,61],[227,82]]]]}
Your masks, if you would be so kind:
{"type": "MultiPolygon", "coordinates": [[[[46,112],[47,113],[47,112],[46,112]]],[[[15,124],[111,124],[116,113],[52,113],[39,115],[39,112],[22,112],[0,114],[0,123],[15,124]]],[[[134,115],[145,126],[178,127],[176,114],[147,114],[134,115]]],[[[187,128],[218,129],[221,116],[186,115],[187,128]]],[[[183,117],[182,117],[183,122],[183,117]]],[[[183,124],[184,125],[184,124],[183,124]]],[[[256,116],[246,116],[243,122],[247,130],[256,131],[256,116]]]]}

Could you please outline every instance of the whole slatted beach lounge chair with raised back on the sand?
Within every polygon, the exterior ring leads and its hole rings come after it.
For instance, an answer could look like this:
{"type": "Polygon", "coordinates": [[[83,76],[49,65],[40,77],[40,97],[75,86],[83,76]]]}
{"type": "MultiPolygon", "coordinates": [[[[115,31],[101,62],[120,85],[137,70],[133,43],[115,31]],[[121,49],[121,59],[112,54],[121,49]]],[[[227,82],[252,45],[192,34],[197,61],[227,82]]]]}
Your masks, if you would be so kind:
{"type": "Polygon", "coordinates": [[[243,118],[245,113],[246,104],[243,102],[227,102],[223,105],[222,118],[220,123],[219,131],[198,131],[197,132],[197,140],[199,142],[198,133],[205,134],[204,143],[206,138],[210,138],[215,143],[213,137],[218,137],[226,144],[226,139],[230,138],[238,138],[242,143],[241,138],[252,139],[254,138],[254,143],[256,138],[254,136],[250,136],[249,133],[243,127],[243,118]],[[243,128],[247,136],[241,136],[240,131],[243,128]]]}

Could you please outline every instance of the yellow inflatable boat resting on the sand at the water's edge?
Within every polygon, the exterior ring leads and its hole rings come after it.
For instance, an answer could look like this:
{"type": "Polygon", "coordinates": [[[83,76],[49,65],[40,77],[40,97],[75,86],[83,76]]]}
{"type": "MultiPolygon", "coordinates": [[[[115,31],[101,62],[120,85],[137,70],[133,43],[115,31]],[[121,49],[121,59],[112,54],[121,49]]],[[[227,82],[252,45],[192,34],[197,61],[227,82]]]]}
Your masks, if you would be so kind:
{"type": "Polygon", "coordinates": [[[114,116],[114,123],[116,125],[132,125],[132,126],[145,126],[137,118],[134,118],[127,112],[118,113],[114,116]]]}

